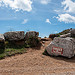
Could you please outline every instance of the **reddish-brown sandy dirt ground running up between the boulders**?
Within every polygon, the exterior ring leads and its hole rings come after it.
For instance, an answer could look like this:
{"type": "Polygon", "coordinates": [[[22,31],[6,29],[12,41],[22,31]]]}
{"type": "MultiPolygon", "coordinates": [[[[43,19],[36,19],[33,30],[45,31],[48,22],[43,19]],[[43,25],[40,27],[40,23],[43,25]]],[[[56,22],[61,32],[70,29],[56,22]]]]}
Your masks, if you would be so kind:
{"type": "MultiPolygon", "coordinates": [[[[45,42],[45,47],[50,41],[45,42]]],[[[45,47],[0,60],[0,75],[75,75],[75,57],[42,55],[45,47]]]]}

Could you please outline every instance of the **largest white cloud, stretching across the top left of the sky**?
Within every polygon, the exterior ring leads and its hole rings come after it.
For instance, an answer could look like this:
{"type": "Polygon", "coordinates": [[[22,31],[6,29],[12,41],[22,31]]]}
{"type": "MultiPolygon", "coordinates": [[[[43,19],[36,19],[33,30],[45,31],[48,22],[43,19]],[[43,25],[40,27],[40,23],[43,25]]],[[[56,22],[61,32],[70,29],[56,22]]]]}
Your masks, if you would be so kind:
{"type": "Polygon", "coordinates": [[[31,0],[1,0],[0,6],[10,7],[13,10],[19,11],[28,11],[32,10],[32,1],[31,0]]]}

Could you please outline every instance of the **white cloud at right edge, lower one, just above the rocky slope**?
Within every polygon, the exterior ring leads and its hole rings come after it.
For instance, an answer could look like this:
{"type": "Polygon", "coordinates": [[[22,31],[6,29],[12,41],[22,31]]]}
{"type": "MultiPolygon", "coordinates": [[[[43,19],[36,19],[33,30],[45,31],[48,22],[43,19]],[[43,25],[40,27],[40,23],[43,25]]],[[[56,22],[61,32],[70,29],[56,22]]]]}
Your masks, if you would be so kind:
{"type": "Polygon", "coordinates": [[[71,16],[70,14],[60,14],[56,17],[60,22],[65,23],[75,23],[75,16],[71,16]]]}

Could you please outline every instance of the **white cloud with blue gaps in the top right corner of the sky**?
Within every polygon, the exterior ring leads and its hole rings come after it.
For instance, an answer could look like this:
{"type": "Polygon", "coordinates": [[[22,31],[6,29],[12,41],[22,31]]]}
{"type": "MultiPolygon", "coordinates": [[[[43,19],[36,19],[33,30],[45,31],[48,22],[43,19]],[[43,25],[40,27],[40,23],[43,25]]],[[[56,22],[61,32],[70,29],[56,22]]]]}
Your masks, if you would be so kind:
{"type": "Polygon", "coordinates": [[[62,2],[62,5],[64,6],[64,10],[66,12],[75,14],[75,2],[73,2],[72,0],[65,0],[62,2]]]}

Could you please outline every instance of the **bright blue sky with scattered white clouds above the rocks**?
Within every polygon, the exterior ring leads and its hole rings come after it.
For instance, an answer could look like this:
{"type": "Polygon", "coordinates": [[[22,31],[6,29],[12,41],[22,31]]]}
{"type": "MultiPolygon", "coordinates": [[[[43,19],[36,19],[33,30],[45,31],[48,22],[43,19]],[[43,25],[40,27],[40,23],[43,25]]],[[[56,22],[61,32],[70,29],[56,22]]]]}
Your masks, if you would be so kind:
{"type": "Polygon", "coordinates": [[[0,33],[38,31],[41,37],[75,28],[74,0],[0,0],[0,33]]]}

